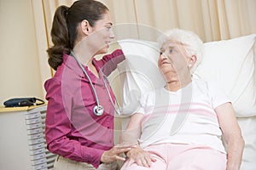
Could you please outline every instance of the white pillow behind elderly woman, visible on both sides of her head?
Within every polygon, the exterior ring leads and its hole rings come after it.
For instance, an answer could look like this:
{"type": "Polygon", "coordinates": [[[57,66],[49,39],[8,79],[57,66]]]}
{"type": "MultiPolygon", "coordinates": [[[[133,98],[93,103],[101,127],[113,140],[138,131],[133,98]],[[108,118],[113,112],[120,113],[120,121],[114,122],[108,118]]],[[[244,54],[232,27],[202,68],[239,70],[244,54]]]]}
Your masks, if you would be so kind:
{"type": "MultiPolygon", "coordinates": [[[[203,59],[194,77],[216,81],[230,98],[237,117],[256,116],[256,34],[230,40],[205,42],[203,59]]],[[[136,111],[141,94],[165,84],[157,66],[159,57],[156,42],[136,39],[120,40],[125,54],[119,66],[123,86],[123,107],[127,113],[136,111]],[[130,108],[130,109],[129,109],[130,108]]]]}

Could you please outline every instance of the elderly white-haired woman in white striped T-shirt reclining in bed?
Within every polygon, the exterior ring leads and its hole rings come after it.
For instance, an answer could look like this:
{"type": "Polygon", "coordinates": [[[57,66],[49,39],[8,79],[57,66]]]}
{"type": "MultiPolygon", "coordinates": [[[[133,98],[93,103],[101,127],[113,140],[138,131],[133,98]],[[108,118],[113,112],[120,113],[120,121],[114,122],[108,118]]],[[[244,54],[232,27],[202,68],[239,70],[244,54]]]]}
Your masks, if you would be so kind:
{"type": "Polygon", "coordinates": [[[201,39],[173,29],[159,43],[166,85],[143,94],[122,133],[122,143],[137,142],[122,170],[238,170],[244,141],[232,104],[214,82],[191,76],[201,61],[201,39]]]}

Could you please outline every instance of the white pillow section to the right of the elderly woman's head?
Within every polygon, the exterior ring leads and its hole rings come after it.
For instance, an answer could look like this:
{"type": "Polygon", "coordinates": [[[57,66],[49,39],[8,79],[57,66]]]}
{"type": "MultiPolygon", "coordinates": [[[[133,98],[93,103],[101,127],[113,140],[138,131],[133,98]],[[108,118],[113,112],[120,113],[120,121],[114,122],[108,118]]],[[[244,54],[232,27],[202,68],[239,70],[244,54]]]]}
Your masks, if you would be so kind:
{"type": "Polygon", "coordinates": [[[218,82],[237,117],[256,116],[256,34],[204,43],[194,76],[218,82]]]}

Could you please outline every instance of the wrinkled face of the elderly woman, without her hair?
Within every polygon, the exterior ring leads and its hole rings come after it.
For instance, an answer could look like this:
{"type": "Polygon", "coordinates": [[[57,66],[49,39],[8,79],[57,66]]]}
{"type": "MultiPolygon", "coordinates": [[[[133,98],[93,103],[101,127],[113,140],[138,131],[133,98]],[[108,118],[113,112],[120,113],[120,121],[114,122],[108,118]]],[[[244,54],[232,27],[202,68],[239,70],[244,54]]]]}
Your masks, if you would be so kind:
{"type": "Polygon", "coordinates": [[[175,77],[188,71],[188,60],[189,55],[183,44],[168,40],[160,48],[158,67],[165,77],[167,74],[175,77]]]}

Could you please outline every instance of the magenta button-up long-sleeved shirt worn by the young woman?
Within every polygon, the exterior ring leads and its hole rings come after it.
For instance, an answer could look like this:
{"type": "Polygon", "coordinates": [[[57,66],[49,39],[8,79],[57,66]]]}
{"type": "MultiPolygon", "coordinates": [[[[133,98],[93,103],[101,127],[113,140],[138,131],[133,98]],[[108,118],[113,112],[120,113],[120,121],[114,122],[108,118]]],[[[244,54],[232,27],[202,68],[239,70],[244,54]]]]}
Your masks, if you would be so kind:
{"type": "Polygon", "coordinates": [[[93,83],[102,116],[95,116],[96,99],[84,72],[76,60],[63,55],[63,62],[55,76],[44,83],[48,108],[45,121],[45,138],[49,151],[73,161],[83,161],[94,167],[100,165],[102,153],[113,147],[114,108],[109,98],[113,91],[108,82],[104,86],[102,72],[108,76],[125,59],[122,50],[115,50],[100,60],[93,60],[100,77],[84,66],[93,83]],[[102,72],[99,71],[102,69],[102,72]]]}

